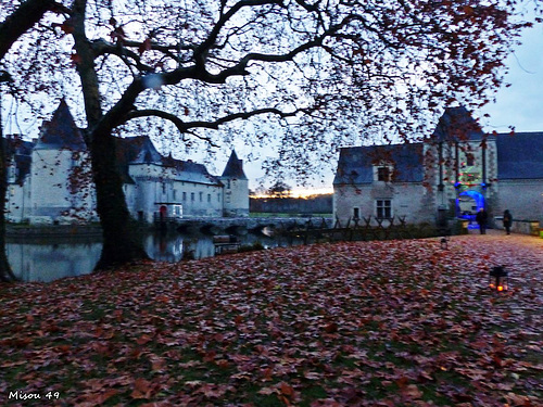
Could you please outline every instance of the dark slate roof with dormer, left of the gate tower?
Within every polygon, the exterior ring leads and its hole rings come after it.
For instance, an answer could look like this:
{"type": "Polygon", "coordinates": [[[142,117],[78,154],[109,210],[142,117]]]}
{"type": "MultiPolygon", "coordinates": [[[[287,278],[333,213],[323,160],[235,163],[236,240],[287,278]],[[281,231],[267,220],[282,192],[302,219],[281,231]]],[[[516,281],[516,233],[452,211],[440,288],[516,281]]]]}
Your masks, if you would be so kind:
{"type": "Polygon", "coordinates": [[[333,185],[371,183],[374,165],[381,162],[393,165],[394,182],[422,182],[422,143],[343,148],[333,185]]]}

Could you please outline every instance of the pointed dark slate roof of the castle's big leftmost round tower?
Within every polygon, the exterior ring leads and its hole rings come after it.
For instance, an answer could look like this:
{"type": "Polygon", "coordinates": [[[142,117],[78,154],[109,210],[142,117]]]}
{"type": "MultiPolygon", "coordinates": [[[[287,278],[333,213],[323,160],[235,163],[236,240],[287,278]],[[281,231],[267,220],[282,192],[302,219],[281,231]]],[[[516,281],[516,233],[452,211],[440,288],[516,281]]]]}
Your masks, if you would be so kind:
{"type": "Polygon", "coordinates": [[[66,149],[71,151],[85,151],[87,145],[81,130],[76,126],[72,113],[64,99],[50,122],[45,122],[36,150],[66,149]]]}

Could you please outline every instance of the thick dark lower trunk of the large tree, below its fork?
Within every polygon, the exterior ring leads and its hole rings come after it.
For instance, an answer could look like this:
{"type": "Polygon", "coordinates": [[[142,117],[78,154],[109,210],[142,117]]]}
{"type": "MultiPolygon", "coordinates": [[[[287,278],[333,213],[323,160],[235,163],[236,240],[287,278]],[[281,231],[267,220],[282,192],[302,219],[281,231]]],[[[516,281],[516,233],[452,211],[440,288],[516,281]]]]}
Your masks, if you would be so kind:
{"type": "Polygon", "coordinates": [[[103,231],[103,249],[96,270],[148,258],[128,213],[111,131],[94,132],[90,147],[97,211],[103,231]]]}

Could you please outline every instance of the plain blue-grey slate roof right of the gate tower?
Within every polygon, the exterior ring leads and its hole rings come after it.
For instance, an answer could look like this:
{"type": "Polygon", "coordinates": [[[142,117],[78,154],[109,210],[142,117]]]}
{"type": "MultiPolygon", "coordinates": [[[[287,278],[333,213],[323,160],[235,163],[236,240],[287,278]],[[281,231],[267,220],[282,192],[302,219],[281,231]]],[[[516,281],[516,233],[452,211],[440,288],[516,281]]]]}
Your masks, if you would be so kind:
{"type": "Polygon", "coordinates": [[[497,179],[543,179],[543,132],[498,133],[497,179]]]}

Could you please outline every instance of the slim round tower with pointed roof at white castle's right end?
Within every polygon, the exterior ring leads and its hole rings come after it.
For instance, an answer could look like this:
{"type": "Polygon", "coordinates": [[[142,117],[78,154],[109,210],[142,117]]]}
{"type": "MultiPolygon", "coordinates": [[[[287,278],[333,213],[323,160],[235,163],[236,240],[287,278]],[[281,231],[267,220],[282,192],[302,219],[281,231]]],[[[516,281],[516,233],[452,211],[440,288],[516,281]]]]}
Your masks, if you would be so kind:
{"type": "Polygon", "coordinates": [[[224,183],[223,215],[226,217],[249,216],[249,180],[243,173],[243,161],[232,150],[220,176],[224,183]]]}

